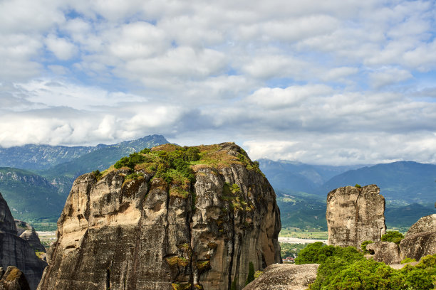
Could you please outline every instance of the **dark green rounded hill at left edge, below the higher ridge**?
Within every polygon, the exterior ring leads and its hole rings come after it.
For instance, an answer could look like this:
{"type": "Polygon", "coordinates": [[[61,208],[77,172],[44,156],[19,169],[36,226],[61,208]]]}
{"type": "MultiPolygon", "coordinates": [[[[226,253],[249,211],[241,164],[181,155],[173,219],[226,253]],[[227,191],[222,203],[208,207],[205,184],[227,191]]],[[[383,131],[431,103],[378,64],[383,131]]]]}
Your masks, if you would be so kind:
{"type": "Polygon", "coordinates": [[[0,193],[19,220],[56,222],[66,199],[42,176],[10,167],[0,168],[0,193]]]}

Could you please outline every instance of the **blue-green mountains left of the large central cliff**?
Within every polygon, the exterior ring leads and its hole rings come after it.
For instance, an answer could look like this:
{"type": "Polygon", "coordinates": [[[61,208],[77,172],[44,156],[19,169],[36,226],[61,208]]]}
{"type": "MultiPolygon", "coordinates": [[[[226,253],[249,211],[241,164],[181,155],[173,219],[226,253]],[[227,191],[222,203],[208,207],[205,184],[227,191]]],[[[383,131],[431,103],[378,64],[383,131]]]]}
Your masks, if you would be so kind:
{"type": "MultiPolygon", "coordinates": [[[[164,136],[152,135],[119,144],[95,147],[46,145],[14,147],[13,151],[9,151],[11,156],[7,162],[14,161],[15,166],[37,168],[33,161],[41,161],[44,163],[43,166],[46,166],[48,163],[67,160],[66,156],[69,161],[36,173],[18,168],[0,168],[0,192],[15,218],[32,221],[33,225],[41,220],[56,222],[76,177],[96,169],[108,168],[121,157],[128,156],[134,151],[166,143],[168,141],[164,136]],[[31,157],[33,153],[36,153],[35,158],[31,157]],[[23,161],[25,159],[33,161],[23,161]]],[[[1,162],[4,162],[3,158],[5,157],[0,157],[1,162]]]]}

